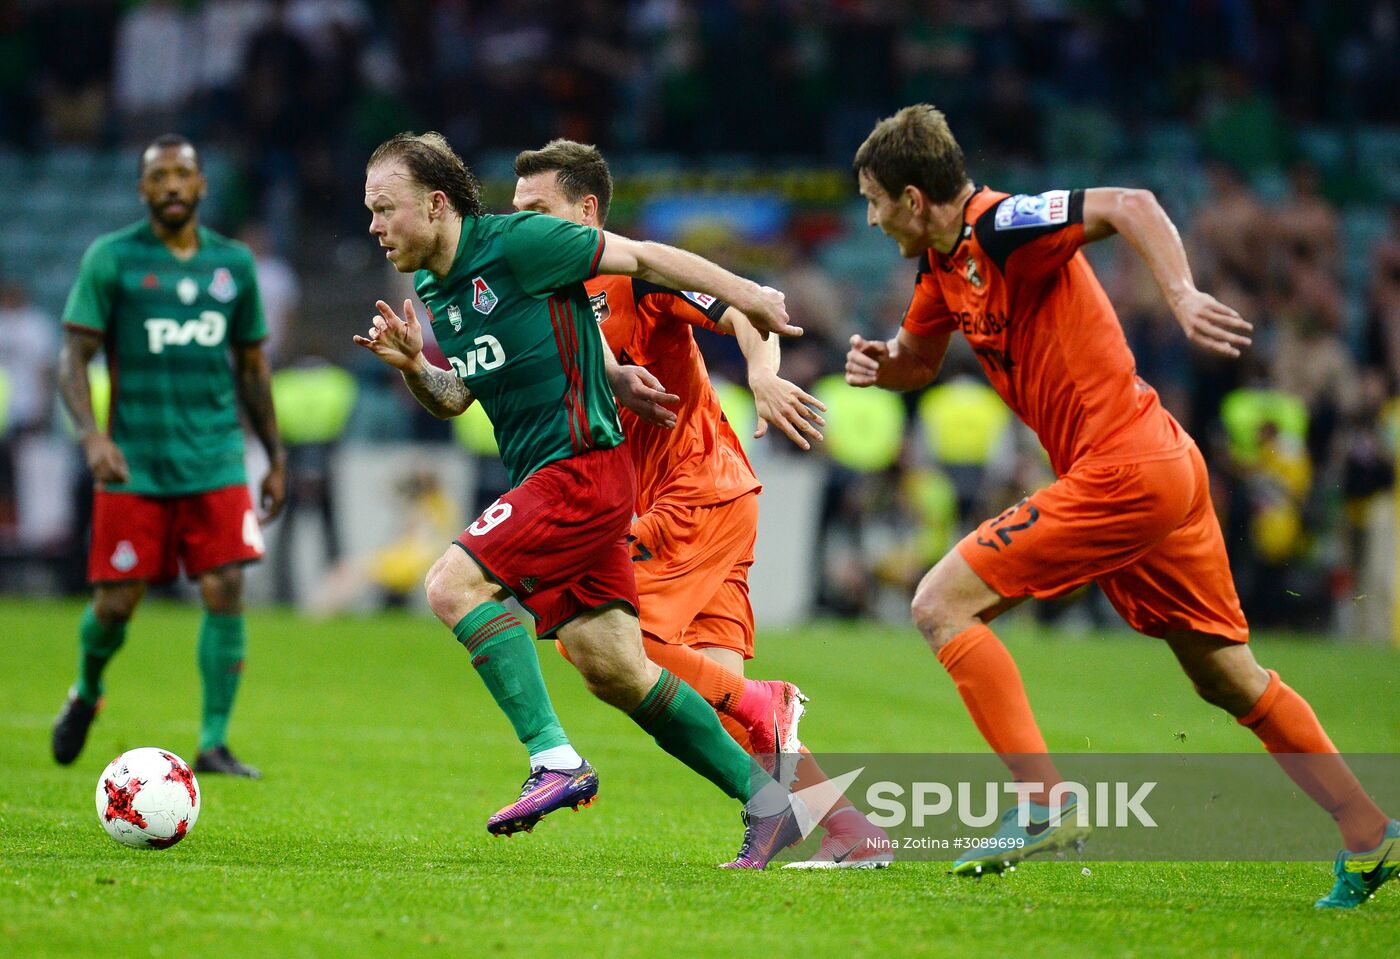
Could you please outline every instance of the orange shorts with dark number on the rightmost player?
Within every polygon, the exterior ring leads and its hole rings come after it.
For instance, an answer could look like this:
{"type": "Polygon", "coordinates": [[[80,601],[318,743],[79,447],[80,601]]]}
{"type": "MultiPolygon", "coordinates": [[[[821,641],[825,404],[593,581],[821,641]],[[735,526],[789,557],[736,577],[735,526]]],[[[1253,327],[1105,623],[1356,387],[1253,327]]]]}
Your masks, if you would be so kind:
{"type": "Polygon", "coordinates": [[[970,532],[958,552],[1002,596],[1057,596],[1093,580],[1128,626],[1243,643],[1205,461],[1075,466],[970,532]]]}

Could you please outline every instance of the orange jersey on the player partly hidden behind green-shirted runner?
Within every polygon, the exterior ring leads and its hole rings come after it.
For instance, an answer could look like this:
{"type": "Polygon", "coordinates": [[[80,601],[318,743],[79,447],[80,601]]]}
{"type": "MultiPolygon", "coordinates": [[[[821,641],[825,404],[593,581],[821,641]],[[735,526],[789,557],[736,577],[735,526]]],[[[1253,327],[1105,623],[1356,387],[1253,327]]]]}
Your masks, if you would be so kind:
{"type": "Polygon", "coordinates": [[[672,430],[622,410],[623,435],[637,470],[637,515],[662,500],[720,504],[759,489],[753,466],[720,409],[692,330],[714,330],[725,304],[627,276],[599,276],[585,286],[608,349],[619,363],[645,367],[666,392],[680,398],[672,407],[672,430]]]}

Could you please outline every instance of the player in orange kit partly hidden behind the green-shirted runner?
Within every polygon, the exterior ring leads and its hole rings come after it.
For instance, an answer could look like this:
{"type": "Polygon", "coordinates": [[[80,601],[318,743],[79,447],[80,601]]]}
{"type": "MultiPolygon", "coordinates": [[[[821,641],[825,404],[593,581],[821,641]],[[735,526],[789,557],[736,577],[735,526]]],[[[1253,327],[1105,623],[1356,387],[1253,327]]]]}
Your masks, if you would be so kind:
{"type": "MultiPolygon", "coordinates": [[[[612,174],[602,154],[571,140],[553,140],[515,158],[515,209],[602,227],[612,174]]],[[[713,297],[678,293],[629,276],[587,281],[594,314],[623,370],[650,372],[664,384],[675,412],[651,407],[666,426],[647,421],[623,396],[623,433],[637,472],[633,568],[641,598],[647,657],[696,687],[725,728],[755,755],[791,756],[801,749],[801,692],[792,683],[743,678],[753,657],[749,567],[757,535],[760,483],[739,438],[720,409],[692,328],[732,333],[749,367],[760,437],[771,423],[802,449],[822,440],[822,403],[777,375],[777,339],[764,342],[748,318],[713,297]]],[[[644,374],[643,374],[644,375],[644,374]]],[[[659,382],[658,382],[659,381],[659,382]]],[[[804,785],[820,771],[797,763],[804,785]]],[[[822,862],[885,865],[883,833],[844,799],[825,818],[822,862]]]]}

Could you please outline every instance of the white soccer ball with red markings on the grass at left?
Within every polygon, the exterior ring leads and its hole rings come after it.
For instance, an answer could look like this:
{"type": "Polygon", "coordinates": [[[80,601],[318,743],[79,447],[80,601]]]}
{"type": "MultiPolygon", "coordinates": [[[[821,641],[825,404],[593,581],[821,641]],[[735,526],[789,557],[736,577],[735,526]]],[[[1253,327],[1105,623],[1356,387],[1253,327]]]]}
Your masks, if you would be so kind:
{"type": "Polygon", "coordinates": [[[122,846],[169,848],[199,819],[195,771],[164,749],[129,749],[97,781],[97,819],[122,846]]]}

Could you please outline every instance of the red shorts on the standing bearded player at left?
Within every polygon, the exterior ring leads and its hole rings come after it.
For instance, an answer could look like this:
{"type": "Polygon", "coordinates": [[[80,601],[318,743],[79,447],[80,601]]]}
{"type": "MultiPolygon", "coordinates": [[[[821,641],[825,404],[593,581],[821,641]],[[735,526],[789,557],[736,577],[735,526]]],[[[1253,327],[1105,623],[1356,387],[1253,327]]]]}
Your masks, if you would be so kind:
{"type": "Polygon", "coordinates": [[[244,484],[186,496],[92,494],[88,582],[167,582],[262,559],[263,539],[244,484]]]}

